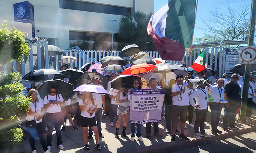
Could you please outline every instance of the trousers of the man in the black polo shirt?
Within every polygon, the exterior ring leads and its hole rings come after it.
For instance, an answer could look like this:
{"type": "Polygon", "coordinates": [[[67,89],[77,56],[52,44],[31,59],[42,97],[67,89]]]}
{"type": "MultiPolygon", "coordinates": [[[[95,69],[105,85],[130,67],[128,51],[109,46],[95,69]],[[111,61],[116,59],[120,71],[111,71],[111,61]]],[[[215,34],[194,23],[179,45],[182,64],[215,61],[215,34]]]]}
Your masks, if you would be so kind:
{"type": "Polygon", "coordinates": [[[226,105],[224,105],[224,115],[222,119],[223,127],[227,127],[227,126],[233,127],[235,125],[237,109],[238,109],[237,105],[230,104],[230,107],[227,107],[226,105]]]}

